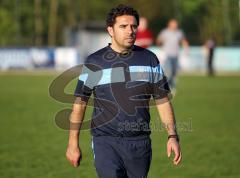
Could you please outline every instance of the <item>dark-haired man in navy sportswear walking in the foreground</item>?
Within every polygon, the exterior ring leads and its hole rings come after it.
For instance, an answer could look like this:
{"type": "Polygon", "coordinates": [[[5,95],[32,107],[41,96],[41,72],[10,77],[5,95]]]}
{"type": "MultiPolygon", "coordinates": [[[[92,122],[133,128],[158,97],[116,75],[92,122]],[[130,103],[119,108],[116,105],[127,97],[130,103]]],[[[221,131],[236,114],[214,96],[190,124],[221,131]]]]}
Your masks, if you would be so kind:
{"type": "Polygon", "coordinates": [[[79,132],[93,93],[91,134],[99,178],[146,178],[152,157],[151,97],[169,135],[167,155],[173,151],[173,163],[181,161],[170,89],[155,54],[134,45],[137,11],[119,5],[108,13],[106,23],[111,43],[88,56],[79,76],[70,117],[75,127],[70,125],[66,157],[74,167],[79,165],[79,132]]]}

